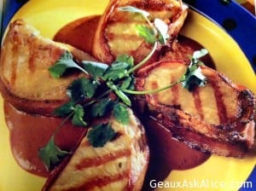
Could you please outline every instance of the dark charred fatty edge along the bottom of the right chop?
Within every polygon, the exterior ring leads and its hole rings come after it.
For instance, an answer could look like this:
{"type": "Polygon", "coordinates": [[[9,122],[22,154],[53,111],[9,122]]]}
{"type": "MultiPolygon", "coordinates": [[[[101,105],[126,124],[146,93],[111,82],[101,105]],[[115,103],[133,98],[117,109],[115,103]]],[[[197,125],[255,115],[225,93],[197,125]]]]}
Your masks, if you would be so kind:
{"type": "MultiPolygon", "coordinates": [[[[238,130],[219,129],[218,126],[206,124],[198,119],[192,118],[189,114],[183,113],[174,108],[158,107],[152,113],[163,124],[166,129],[172,132],[172,136],[181,142],[185,142],[190,148],[201,150],[202,152],[217,153],[227,157],[242,158],[249,148],[253,147],[253,140],[245,140],[238,130]],[[207,135],[194,130],[193,125],[201,125],[206,128],[209,125],[207,135]]],[[[248,126],[248,132],[254,135],[254,123],[248,126]]]]}

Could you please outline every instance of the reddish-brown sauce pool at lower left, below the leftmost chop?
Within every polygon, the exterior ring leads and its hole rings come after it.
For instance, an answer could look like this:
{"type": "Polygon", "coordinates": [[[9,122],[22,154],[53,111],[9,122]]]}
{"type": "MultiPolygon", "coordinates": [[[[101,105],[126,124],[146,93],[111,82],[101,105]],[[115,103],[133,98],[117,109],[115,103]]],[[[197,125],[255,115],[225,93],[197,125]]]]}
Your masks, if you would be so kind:
{"type": "MultiPolygon", "coordinates": [[[[38,150],[43,148],[63,119],[35,116],[22,113],[4,102],[6,123],[10,131],[10,144],[17,163],[26,171],[41,177],[48,177],[49,171],[38,158],[38,150]]],[[[55,143],[61,149],[72,151],[84,128],[64,124],[55,136],[55,143]]]]}

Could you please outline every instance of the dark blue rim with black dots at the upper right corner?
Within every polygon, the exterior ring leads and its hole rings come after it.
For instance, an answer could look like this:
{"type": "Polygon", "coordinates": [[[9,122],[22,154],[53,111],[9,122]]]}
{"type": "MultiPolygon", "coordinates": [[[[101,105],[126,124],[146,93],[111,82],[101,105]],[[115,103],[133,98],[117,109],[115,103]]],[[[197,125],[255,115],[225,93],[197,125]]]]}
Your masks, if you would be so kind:
{"type": "Polygon", "coordinates": [[[248,61],[253,66],[254,72],[256,72],[256,17],[234,1],[188,0],[187,2],[192,3],[195,9],[207,14],[207,16],[215,20],[220,26],[222,26],[226,19],[236,21],[236,28],[227,32],[240,45],[245,55],[247,55],[248,61]]]}

